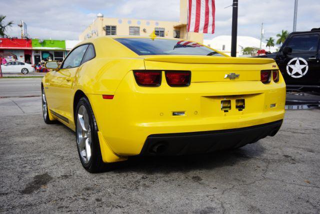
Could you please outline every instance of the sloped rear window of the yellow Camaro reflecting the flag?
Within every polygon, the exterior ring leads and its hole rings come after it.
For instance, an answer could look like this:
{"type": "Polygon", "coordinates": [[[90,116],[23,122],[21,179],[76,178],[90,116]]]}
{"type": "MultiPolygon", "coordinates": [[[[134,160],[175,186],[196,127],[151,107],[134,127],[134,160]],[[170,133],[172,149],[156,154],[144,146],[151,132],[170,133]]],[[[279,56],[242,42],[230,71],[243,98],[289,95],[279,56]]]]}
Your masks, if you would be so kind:
{"type": "Polygon", "coordinates": [[[115,39],[137,55],[223,55],[201,44],[184,40],[118,38],[115,39]]]}

